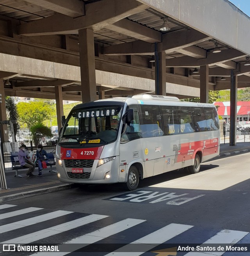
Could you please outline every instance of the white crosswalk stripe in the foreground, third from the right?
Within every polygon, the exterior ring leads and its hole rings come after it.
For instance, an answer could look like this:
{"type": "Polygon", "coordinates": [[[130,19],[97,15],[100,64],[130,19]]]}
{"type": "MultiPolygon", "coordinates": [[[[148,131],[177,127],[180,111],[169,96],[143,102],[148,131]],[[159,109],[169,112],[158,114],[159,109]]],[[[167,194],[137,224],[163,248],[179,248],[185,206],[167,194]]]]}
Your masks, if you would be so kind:
{"type": "MultiPolygon", "coordinates": [[[[91,243],[98,242],[104,238],[107,238],[109,236],[115,235],[121,231],[124,231],[126,229],[129,229],[130,227],[136,226],[142,222],[145,222],[146,220],[138,220],[133,218],[127,218],[125,220],[121,220],[119,222],[116,222],[112,225],[109,225],[107,227],[103,227],[101,229],[98,229],[96,231],[93,231],[91,233],[88,233],[83,236],[79,236],[77,238],[74,238],[72,240],[69,240],[67,242],[64,242],[64,244],[74,244],[74,249],[78,250],[82,247],[85,247],[91,243]]],[[[32,254],[30,256],[34,255],[44,255],[44,256],[64,256],[66,254],[69,254],[71,252],[37,252],[35,254],[32,254]]]]}

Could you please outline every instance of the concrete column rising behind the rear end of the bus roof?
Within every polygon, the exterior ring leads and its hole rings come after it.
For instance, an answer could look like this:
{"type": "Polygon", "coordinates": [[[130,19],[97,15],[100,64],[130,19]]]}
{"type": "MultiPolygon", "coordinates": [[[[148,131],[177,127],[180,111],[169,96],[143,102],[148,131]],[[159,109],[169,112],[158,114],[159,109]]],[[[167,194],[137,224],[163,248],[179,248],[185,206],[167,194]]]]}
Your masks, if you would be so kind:
{"type": "Polygon", "coordinates": [[[200,66],[200,102],[208,103],[209,76],[208,65],[200,66]]]}

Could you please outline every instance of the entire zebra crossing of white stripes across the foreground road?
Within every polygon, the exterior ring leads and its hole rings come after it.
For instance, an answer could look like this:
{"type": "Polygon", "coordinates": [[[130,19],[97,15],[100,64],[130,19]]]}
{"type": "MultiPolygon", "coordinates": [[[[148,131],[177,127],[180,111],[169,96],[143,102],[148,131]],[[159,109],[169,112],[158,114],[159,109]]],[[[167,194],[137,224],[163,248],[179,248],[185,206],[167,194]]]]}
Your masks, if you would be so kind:
{"type": "MultiPolygon", "coordinates": [[[[14,207],[16,205],[11,205],[11,204],[3,204],[0,205],[0,209],[7,209],[14,207]]],[[[25,208],[25,209],[20,209],[17,211],[10,211],[9,213],[2,213],[0,214],[0,220],[9,218],[9,217],[14,217],[22,214],[29,214],[34,211],[40,210],[43,208],[35,208],[35,207],[30,207],[30,208],[25,208]]],[[[8,210],[7,210],[8,211],[8,210]]],[[[27,218],[25,220],[20,220],[17,222],[13,222],[10,224],[5,224],[0,226],[0,233],[4,233],[7,231],[13,231],[15,229],[19,229],[22,227],[27,227],[33,224],[37,224],[40,222],[44,222],[46,220],[52,220],[57,217],[62,217],[64,215],[68,215],[70,213],[73,213],[72,211],[54,211],[52,213],[46,213],[43,215],[39,215],[36,217],[32,218],[27,218]]],[[[68,222],[64,222],[62,224],[48,227],[46,229],[42,229],[33,233],[29,233],[27,235],[19,236],[16,238],[11,238],[10,240],[1,242],[0,244],[29,244],[33,243],[35,241],[48,238],[53,235],[58,235],[62,234],[65,231],[70,231],[73,230],[77,227],[84,226],[86,224],[93,223],[98,220],[102,220],[104,218],[107,218],[109,216],[107,215],[97,215],[97,214],[92,214],[92,215],[87,215],[85,217],[77,218],[75,220],[71,220],[68,222]]],[[[101,241],[105,238],[109,238],[112,235],[118,234],[122,231],[125,231],[126,229],[130,229],[132,227],[137,228],[136,226],[138,224],[141,224],[145,222],[146,220],[140,220],[140,219],[134,219],[134,218],[127,218],[124,220],[121,220],[119,222],[116,222],[114,224],[111,224],[109,226],[102,227],[98,230],[95,230],[91,233],[87,233],[82,236],[78,236],[77,238],[73,238],[71,240],[68,240],[66,242],[61,241],[61,244],[59,244],[59,249],[61,252],[36,252],[30,256],[64,256],[67,254],[70,254],[73,251],[76,251],[78,249],[81,249],[87,245],[91,245],[93,243],[96,243],[98,241],[101,241]],[[69,245],[69,247],[68,247],[69,245]],[[63,252],[63,251],[68,251],[68,252],[63,252]]],[[[102,222],[103,223],[103,222],[102,222]]],[[[129,244],[126,244],[123,247],[120,247],[119,249],[106,254],[105,256],[139,256],[147,251],[152,251],[155,246],[162,244],[172,238],[175,238],[175,236],[178,236],[182,234],[185,231],[188,231],[191,229],[193,226],[190,225],[184,225],[184,224],[169,224],[167,226],[164,226],[156,231],[153,231],[152,233],[149,233],[146,236],[143,236],[134,242],[131,242],[129,244]],[[136,247],[135,247],[136,246],[136,247]]],[[[84,228],[84,227],[83,227],[84,228]]],[[[28,230],[28,229],[27,229],[28,230]]],[[[129,232],[132,234],[133,230],[129,230],[129,232]]],[[[192,229],[193,230],[193,229],[192,229]]],[[[74,231],[71,231],[73,233],[74,231]]],[[[186,233],[185,233],[186,234],[186,233]]],[[[187,233],[188,235],[189,233],[187,233]]],[[[245,236],[247,236],[249,233],[248,232],[243,232],[243,231],[234,231],[234,230],[227,230],[223,229],[220,232],[218,232],[216,235],[212,236],[209,238],[207,241],[201,244],[201,247],[206,247],[207,245],[211,244],[227,244],[227,245],[235,245],[237,244],[240,240],[242,240],[245,236]]],[[[15,232],[9,234],[11,236],[15,236],[15,232]]],[[[123,234],[121,234],[123,235],[123,234]]],[[[119,237],[121,236],[119,234],[119,237]]],[[[60,235],[64,236],[64,235],[60,235]]],[[[64,239],[66,240],[66,239],[64,239]]],[[[119,243],[122,240],[115,240],[115,243],[119,243]]],[[[122,241],[123,242],[123,241],[122,241]]],[[[112,243],[112,242],[111,242],[112,243]]],[[[42,244],[41,244],[42,245],[42,244]]],[[[98,246],[98,245],[97,245],[98,246]]],[[[166,247],[168,245],[166,244],[166,247]]],[[[116,247],[117,248],[117,247],[116,247]]],[[[2,248],[0,248],[0,253],[2,252],[2,248]]],[[[208,255],[213,255],[213,256],[222,256],[225,253],[225,251],[221,252],[209,252],[209,251],[201,251],[201,252],[187,252],[185,256],[208,256],[208,255]]]]}

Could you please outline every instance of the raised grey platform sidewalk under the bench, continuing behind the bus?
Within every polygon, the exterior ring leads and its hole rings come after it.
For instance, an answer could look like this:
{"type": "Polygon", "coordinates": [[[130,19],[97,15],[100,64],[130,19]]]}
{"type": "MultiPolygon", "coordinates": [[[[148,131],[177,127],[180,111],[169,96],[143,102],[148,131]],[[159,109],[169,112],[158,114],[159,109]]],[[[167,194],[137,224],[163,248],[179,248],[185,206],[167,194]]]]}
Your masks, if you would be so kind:
{"type": "MultiPolygon", "coordinates": [[[[220,156],[214,159],[246,152],[250,152],[250,142],[237,142],[236,146],[229,146],[229,143],[224,144],[224,140],[221,140],[220,156]]],[[[19,170],[18,174],[21,174],[23,176],[22,178],[14,177],[14,171],[5,172],[8,189],[0,189],[0,203],[64,190],[74,186],[73,183],[60,182],[57,179],[57,173],[49,172],[49,170],[50,168],[45,169],[42,176],[36,177],[27,177],[26,170],[19,170]]],[[[55,166],[53,166],[52,170],[55,171],[55,166]]],[[[37,168],[34,174],[38,174],[37,168]]]]}

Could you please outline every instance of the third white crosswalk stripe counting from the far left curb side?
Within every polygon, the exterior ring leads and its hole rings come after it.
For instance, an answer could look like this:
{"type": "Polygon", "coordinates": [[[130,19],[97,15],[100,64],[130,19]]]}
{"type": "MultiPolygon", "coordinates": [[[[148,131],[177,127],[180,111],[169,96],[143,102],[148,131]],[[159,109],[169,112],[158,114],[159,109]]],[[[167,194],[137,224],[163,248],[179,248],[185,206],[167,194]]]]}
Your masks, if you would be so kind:
{"type": "Polygon", "coordinates": [[[15,230],[15,229],[19,229],[21,227],[26,227],[26,226],[30,226],[33,224],[37,224],[39,222],[43,222],[45,220],[51,220],[52,218],[57,218],[57,217],[61,217],[67,214],[73,213],[73,211],[54,211],[52,213],[46,213],[43,215],[39,215],[36,217],[32,217],[32,218],[28,218],[26,220],[20,220],[17,222],[13,222],[10,224],[6,224],[1,226],[0,229],[0,234],[7,232],[7,231],[11,231],[11,230],[15,230]]]}

